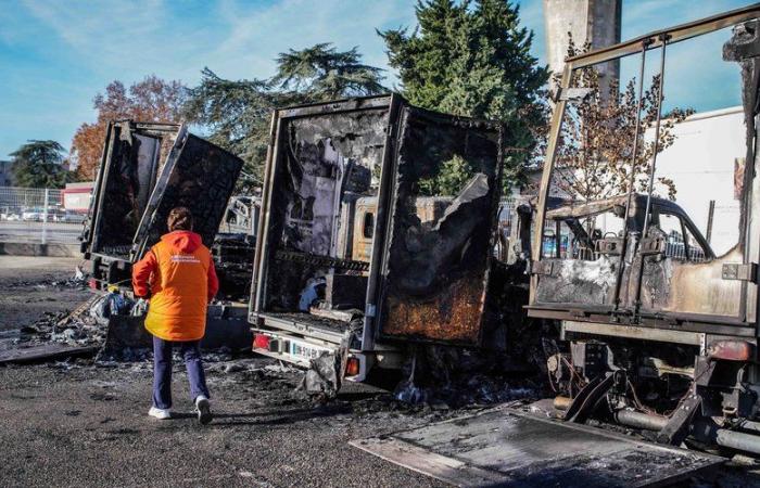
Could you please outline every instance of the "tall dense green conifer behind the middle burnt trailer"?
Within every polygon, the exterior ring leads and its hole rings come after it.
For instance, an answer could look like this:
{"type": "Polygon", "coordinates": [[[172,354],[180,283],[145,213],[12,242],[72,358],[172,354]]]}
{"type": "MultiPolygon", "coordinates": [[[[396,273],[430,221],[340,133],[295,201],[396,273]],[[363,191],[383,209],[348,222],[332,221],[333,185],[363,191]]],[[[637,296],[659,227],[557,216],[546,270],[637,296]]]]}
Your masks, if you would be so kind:
{"type": "MultiPolygon", "coordinates": [[[[533,33],[520,26],[518,5],[420,0],[416,11],[419,27],[411,34],[406,28],[378,33],[391,66],[398,69],[402,93],[426,108],[503,121],[504,184],[522,182],[522,169],[546,126],[548,69],[530,54],[533,33]]],[[[465,176],[471,176],[469,168],[449,162],[440,181],[425,188],[451,191],[447,187],[465,176]]]]}

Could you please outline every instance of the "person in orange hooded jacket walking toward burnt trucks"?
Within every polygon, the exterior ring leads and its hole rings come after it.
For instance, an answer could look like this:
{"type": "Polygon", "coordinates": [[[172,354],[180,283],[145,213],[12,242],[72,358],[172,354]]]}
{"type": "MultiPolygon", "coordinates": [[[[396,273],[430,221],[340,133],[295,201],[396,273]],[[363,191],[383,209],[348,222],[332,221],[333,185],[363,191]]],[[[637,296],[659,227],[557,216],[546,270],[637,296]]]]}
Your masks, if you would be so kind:
{"type": "Polygon", "coordinates": [[[172,209],[168,234],[132,266],[135,295],[150,299],[145,329],[153,334],[153,406],[156,419],[170,419],[172,348],[185,358],[190,395],[202,424],[212,420],[200,343],[206,329],[206,307],[219,290],[211,252],[192,232],[192,215],[172,209]]]}

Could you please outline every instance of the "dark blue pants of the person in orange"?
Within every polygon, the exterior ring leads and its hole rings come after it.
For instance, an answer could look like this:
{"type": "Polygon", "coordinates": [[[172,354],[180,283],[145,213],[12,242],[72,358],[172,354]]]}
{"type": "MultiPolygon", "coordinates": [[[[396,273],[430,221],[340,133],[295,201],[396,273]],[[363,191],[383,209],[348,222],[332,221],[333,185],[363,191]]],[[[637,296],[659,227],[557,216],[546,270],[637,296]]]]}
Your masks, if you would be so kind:
{"type": "Polygon", "coordinates": [[[190,380],[190,399],[199,395],[211,398],[201,361],[201,342],[172,342],[153,336],[153,406],[172,408],[172,346],[178,344],[190,380]]]}

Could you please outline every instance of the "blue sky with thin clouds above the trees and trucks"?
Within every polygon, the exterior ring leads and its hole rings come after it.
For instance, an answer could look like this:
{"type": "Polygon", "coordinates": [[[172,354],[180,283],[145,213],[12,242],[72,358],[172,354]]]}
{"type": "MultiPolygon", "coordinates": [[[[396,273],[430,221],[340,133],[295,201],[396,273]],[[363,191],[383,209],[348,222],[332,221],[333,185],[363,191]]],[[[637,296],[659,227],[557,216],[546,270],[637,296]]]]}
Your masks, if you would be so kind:
{"type": "MultiPolygon", "coordinates": [[[[572,1],[572,0],[570,0],[572,1]]],[[[543,0],[518,0],[521,22],[535,33],[533,54],[546,63],[543,0]]],[[[622,39],[688,22],[750,1],[623,0],[622,39]]],[[[416,0],[0,0],[0,159],[31,139],[68,149],[76,128],[96,119],[93,97],[118,79],[148,75],[200,80],[207,66],[229,79],[267,78],[288,49],[333,42],[357,46],[364,62],[387,69],[376,29],[414,28],[416,0]]],[[[666,77],[671,104],[698,111],[740,103],[736,74],[723,75],[726,33],[676,46],[666,77]],[[707,62],[710,57],[714,62],[707,62]],[[721,69],[722,67],[722,69],[721,69]],[[685,80],[698,82],[685,84],[685,80]],[[733,84],[733,85],[732,85],[733,84]],[[730,88],[726,88],[730,87],[730,88]]],[[[635,70],[622,65],[622,78],[635,70]]],[[[650,63],[656,66],[657,63],[650,63]]]]}

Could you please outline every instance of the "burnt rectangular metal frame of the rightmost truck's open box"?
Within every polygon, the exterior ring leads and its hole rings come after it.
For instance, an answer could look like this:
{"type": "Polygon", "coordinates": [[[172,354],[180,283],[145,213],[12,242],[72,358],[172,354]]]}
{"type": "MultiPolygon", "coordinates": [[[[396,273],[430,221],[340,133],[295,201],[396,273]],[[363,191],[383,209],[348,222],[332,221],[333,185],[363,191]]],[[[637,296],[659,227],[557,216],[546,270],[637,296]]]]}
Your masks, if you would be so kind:
{"type": "MultiPolygon", "coordinates": [[[[533,246],[532,246],[532,260],[534,264],[537,264],[541,260],[541,248],[542,248],[542,243],[544,241],[544,220],[546,217],[546,204],[549,197],[549,187],[552,182],[552,176],[554,172],[555,164],[556,164],[556,157],[557,157],[557,149],[558,149],[558,141],[559,141],[559,136],[560,136],[560,130],[561,130],[561,125],[562,120],[565,118],[565,112],[567,110],[567,97],[561,97],[561,92],[566,91],[570,88],[570,81],[572,79],[572,74],[575,69],[583,68],[583,67],[588,67],[593,66],[596,64],[605,63],[608,61],[613,61],[613,60],[619,60],[629,55],[633,54],[638,54],[642,53],[643,56],[646,55],[647,51],[650,51],[653,49],[657,48],[663,48],[664,44],[673,44],[680,41],[684,41],[687,39],[691,39],[693,37],[698,37],[702,36],[715,30],[720,30],[726,27],[731,27],[747,21],[752,21],[760,18],[760,3],[755,3],[752,5],[748,5],[742,9],[736,9],[727,12],[723,12],[717,15],[713,15],[711,17],[707,17],[704,20],[682,24],[675,27],[670,27],[661,30],[657,30],[654,33],[646,34],[644,36],[639,36],[637,38],[610,46],[607,48],[601,48],[597,49],[584,54],[579,54],[575,56],[570,56],[566,59],[565,61],[565,68],[562,69],[562,76],[560,80],[560,86],[559,86],[559,95],[557,97],[557,102],[554,108],[554,114],[552,117],[552,124],[549,127],[549,141],[547,145],[547,158],[544,163],[544,168],[543,168],[543,174],[541,178],[541,184],[540,184],[540,190],[539,190],[539,207],[536,211],[536,221],[541,222],[540,224],[535,226],[536,233],[533,239],[533,246]]],[[[664,56],[662,59],[664,61],[664,56]]],[[[643,80],[639,80],[639,84],[643,82],[643,80]]],[[[641,88],[641,87],[639,87],[641,88]]],[[[641,90],[639,90],[641,91],[641,90]]],[[[661,93],[660,93],[661,94],[661,93]]],[[[639,95],[639,101],[641,101],[641,95],[639,95]]],[[[749,143],[749,141],[747,141],[749,143]]],[[[747,162],[747,165],[753,165],[755,162],[747,162]]],[[[743,190],[745,193],[751,191],[751,187],[746,185],[743,190]]],[[[743,213],[746,215],[746,221],[749,221],[749,215],[748,213],[751,209],[751,202],[749,202],[749,198],[743,198],[743,213]]],[[[626,209],[628,211],[628,209],[626,209]]],[[[747,227],[749,224],[747,223],[747,227]]],[[[745,230],[746,232],[746,230],[745,230]]],[[[748,255],[748,248],[749,248],[749,242],[745,243],[745,249],[744,249],[744,264],[747,264],[749,259],[748,255]]],[[[621,259],[622,260],[622,259],[621,259]]],[[[529,314],[531,316],[536,316],[535,310],[545,310],[545,313],[540,313],[537,316],[541,317],[546,317],[546,318],[553,318],[553,319],[571,319],[571,320],[579,320],[579,318],[582,317],[582,320],[590,320],[590,321],[599,321],[599,322],[609,322],[610,321],[610,312],[611,311],[617,311],[618,304],[616,303],[615,309],[616,310],[609,310],[610,307],[606,306],[598,306],[598,307],[588,307],[588,306],[581,306],[580,308],[584,309],[582,313],[580,313],[581,317],[579,317],[579,313],[575,313],[574,316],[570,312],[567,311],[567,306],[563,306],[562,304],[536,304],[536,287],[539,284],[540,277],[535,273],[531,274],[531,287],[530,287],[530,304],[528,306],[529,309],[529,314]],[[555,309],[555,310],[552,310],[555,309]],[[553,317],[548,317],[553,316],[553,317]],[[597,319],[592,319],[592,317],[596,316],[597,319]]],[[[620,281],[620,280],[618,280],[620,281]]],[[[616,284],[616,287],[619,286],[616,284]]],[[[616,293],[616,299],[619,294],[616,293]]],[[[746,295],[747,295],[747,283],[745,282],[743,284],[743,299],[742,304],[745,304],[746,300],[746,295]]],[[[760,294],[758,299],[760,300],[760,294]]],[[[568,304],[565,304],[568,305],[568,304]]],[[[575,308],[579,308],[579,306],[575,304],[575,308]]],[[[701,329],[704,324],[722,324],[720,328],[723,328],[725,325],[729,325],[732,330],[735,330],[737,335],[748,335],[747,333],[749,332],[749,329],[752,330],[751,335],[756,335],[756,331],[753,326],[748,326],[746,322],[747,318],[747,308],[743,307],[742,305],[739,306],[740,310],[738,311],[738,317],[736,318],[725,318],[725,317],[713,317],[713,316],[705,316],[705,314],[696,314],[696,313],[643,313],[641,317],[637,318],[637,324],[641,326],[668,326],[669,322],[677,322],[677,324],[681,325],[687,325],[692,326],[694,329],[701,329]],[[667,316],[674,316],[674,317],[667,317],[667,316]]],[[[675,325],[681,329],[681,325],[675,325]]],[[[709,328],[708,328],[709,329],[709,328]]],[[[727,331],[726,331],[727,332],[727,331]]]]}

